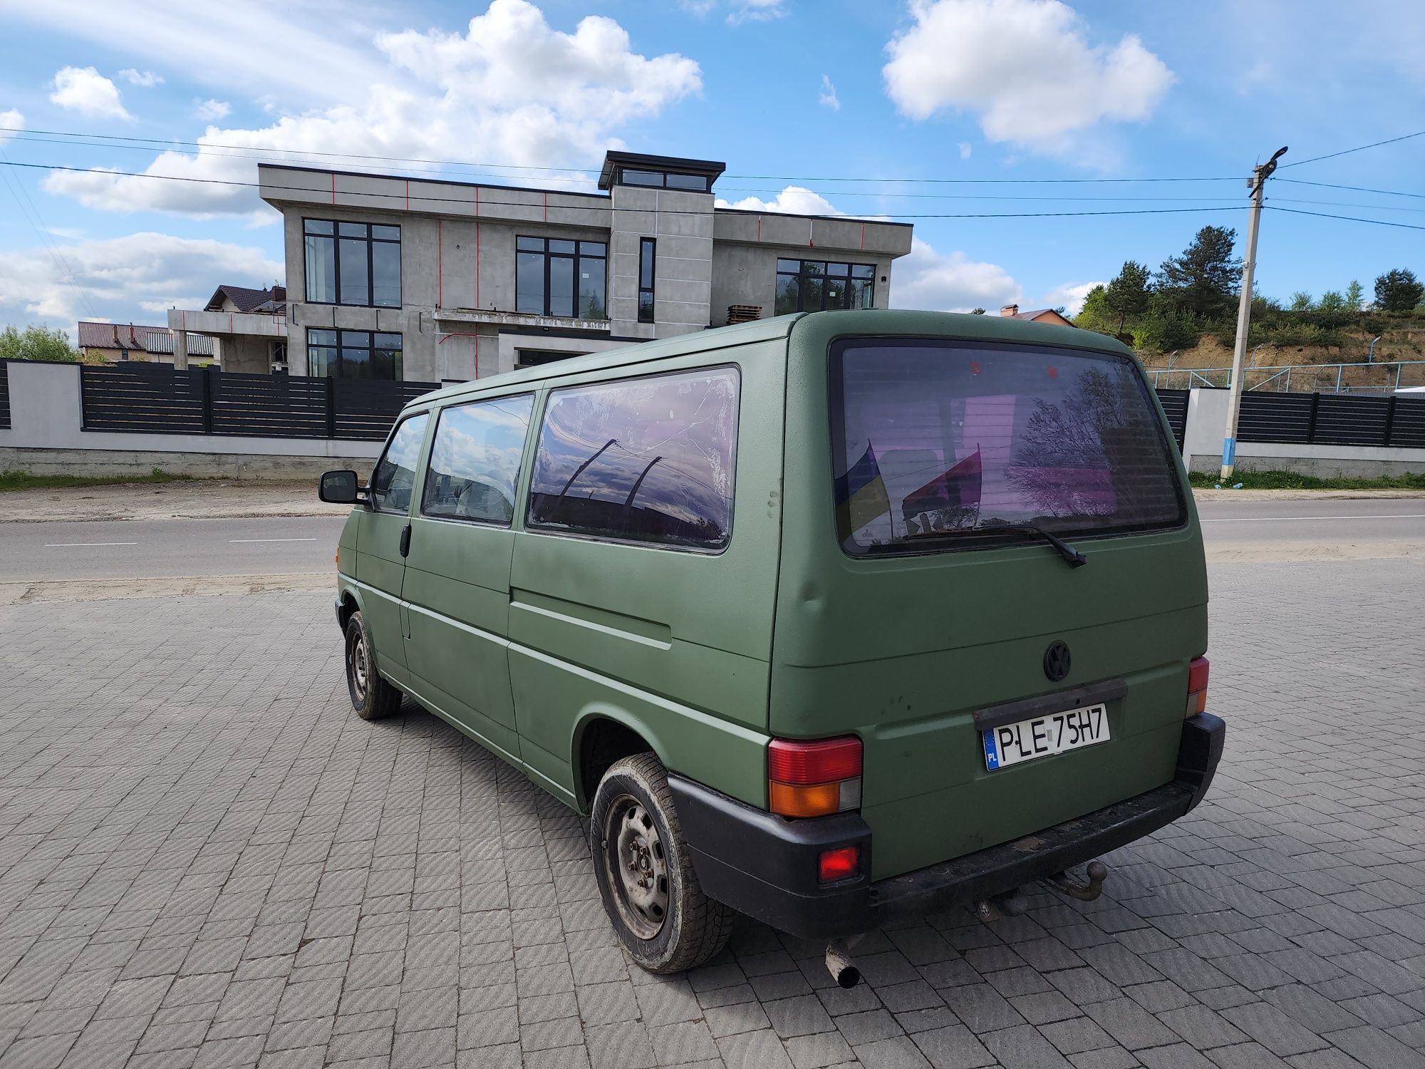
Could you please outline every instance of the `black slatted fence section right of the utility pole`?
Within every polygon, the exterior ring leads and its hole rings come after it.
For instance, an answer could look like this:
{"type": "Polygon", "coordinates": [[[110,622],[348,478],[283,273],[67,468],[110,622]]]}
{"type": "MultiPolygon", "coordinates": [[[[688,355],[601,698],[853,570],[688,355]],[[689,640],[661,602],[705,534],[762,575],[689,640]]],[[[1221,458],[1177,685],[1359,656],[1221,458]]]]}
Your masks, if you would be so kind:
{"type": "Polygon", "coordinates": [[[1243,393],[1238,442],[1425,448],[1425,398],[1243,393]]]}

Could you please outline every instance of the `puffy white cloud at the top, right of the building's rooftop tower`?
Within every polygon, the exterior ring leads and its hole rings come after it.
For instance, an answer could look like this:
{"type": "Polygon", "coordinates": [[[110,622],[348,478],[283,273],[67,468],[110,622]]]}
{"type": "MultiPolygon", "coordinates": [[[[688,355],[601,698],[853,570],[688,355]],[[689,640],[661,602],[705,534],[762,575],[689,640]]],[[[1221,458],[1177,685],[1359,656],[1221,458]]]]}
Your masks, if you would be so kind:
{"type": "Polygon", "coordinates": [[[1059,0],[911,0],[886,91],[912,118],[970,111],[990,141],[1069,155],[1077,131],[1147,118],[1173,73],[1136,34],[1090,46],[1059,0]]]}

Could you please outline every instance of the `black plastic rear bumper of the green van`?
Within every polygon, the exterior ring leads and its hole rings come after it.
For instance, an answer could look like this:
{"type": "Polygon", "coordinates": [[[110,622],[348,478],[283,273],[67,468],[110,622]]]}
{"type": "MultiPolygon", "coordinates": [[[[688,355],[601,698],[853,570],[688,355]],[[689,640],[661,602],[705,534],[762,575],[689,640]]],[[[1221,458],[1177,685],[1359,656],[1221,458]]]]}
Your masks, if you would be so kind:
{"type": "Polygon", "coordinates": [[[1207,792],[1226,733],[1214,716],[1191,717],[1183,723],[1173,783],[1013,842],[876,882],[865,875],[828,885],[817,881],[817,858],[834,847],[859,847],[861,871],[871,871],[871,828],[859,814],[794,821],[680,775],[670,775],[668,785],[708,895],[792,935],[836,938],[1012,891],[1171,824],[1207,792]]]}

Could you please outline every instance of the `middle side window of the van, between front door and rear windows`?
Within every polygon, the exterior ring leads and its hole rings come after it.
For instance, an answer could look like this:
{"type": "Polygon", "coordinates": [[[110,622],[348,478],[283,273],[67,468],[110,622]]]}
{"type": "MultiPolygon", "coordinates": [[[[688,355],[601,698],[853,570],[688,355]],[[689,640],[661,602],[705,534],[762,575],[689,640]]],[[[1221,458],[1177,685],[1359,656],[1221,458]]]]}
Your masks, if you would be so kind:
{"type": "Polygon", "coordinates": [[[510,526],[533,406],[534,396],[524,393],[445,409],[430,446],[420,515],[510,526]]]}

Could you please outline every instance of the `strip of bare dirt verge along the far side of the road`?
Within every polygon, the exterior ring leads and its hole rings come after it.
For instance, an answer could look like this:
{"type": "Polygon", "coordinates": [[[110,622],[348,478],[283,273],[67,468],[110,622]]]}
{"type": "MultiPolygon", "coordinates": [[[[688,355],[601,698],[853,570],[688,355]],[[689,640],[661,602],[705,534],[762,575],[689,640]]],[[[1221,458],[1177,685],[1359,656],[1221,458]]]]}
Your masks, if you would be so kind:
{"type": "MultiPolygon", "coordinates": [[[[1322,497],[1425,497],[1425,490],[1194,490],[1198,500],[1294,502],[1322,497]]],[[[215,520],[254,516],[345,516],[316,500],[315,482],[227,482],[76,486],[0,496],[0,523],[47,520],[215,520]]]]}

